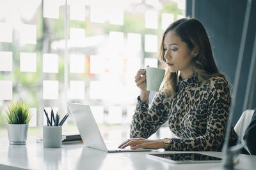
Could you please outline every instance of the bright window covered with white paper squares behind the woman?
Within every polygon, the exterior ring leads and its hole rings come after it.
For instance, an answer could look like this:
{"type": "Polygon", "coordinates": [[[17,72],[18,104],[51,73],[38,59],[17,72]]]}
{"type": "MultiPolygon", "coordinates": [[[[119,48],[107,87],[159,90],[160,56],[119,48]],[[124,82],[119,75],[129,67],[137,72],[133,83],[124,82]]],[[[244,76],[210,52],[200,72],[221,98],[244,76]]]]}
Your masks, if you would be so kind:
{"type": "MultiPolygon", "coordinates": [[[[0,1],[0,137],[6,105],[24,100],[29,135],[42,136],[43,107],[63,117],[67,102],[90,104],[104,139],[129,137],[138,69],[163,67],[159,38],[184,17],[185,0],[0,1]],[[67,6],[66,6],[67,4],[67,6]]],[[[77,131],[68,117],[63,131],[77,131]]],[[[151,138],[170,131],[161,127],[151,138]]]]}

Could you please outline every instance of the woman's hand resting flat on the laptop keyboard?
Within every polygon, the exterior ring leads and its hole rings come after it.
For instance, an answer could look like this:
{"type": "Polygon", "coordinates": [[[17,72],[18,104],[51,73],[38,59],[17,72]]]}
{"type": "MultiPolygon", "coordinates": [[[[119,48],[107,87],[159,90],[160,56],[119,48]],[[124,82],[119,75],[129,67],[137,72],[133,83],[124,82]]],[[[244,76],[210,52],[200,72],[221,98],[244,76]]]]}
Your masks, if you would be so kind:
{"type": "Polygon", "coordinates": [[[131,138],[124,141],[118,148],[125,148],[126,146],[130,146],[132,150],[136,150],[138,148],[152,148],[159,149],[164,148],[164,143],[162,139],[150,140],[143,138],[131,138]]]}

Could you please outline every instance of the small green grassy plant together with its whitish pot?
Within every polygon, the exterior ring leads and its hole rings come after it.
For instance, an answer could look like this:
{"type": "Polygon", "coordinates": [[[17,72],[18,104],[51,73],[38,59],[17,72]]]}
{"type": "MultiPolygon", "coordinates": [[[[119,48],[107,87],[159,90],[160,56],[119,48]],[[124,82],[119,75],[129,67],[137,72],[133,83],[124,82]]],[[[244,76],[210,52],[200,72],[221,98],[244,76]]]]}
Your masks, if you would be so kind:
{"type": "Polygon", "coordinates": [[[17,101],[8,106],[6,115],[10,145],[26,145],[28,123],[31,119],[30,106],[24,101],[17,101]]]}

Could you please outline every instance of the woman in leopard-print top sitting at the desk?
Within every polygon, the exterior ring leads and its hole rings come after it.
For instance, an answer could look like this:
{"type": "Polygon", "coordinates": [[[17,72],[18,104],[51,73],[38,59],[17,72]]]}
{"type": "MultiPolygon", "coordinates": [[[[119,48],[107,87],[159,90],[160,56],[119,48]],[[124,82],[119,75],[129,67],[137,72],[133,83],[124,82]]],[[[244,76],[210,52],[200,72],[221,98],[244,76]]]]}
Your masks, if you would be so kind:
{"type": "MultiPolygon", "coordinates": [[[[141,92],[132,118],[131,139],[119,147],[220,151],[230,91],[216,66],[204,26],[195,18],[173,22],[163,33],[159,56],[168,65],[163,88],[148,109],[145,70],[138,71],[135,82],[141,92]],[[178,138],[146,139],[166,121],[178,138]]],[[[236,140],[232,127],[230,141],[234,144],[236,140]]]]}

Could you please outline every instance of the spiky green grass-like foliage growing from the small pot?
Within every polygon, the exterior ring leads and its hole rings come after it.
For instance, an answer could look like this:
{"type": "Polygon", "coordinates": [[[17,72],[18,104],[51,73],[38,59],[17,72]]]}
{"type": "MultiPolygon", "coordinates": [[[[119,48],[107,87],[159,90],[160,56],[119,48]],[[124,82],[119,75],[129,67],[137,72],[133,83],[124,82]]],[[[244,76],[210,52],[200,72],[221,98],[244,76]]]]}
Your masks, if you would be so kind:
{"type": "Polygon", "coordinates": [[[8,124],[28,124],[31,119],[30,106],[24,101],[10,104],[7,111],[8,124]]]}

